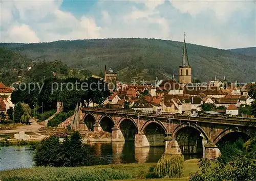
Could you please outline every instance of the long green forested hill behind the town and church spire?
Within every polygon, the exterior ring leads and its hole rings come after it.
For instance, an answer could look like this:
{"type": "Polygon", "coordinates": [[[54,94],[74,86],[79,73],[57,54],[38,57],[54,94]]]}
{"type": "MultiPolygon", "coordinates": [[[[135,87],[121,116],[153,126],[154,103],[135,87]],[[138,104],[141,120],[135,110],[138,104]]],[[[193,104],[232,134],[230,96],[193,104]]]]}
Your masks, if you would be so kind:
{"type": "MultiPolygon", "coordinates": [[[[0,43],[35,61],[61,60],[68,66],[102,75],[104,65],[118,73],[118,80],[168,79],[182,61],[183,42],[157,39],[95,39],[51,43],[0,43]]],[[[187,43],[193,77],[209,81],[217,76],[228,81],[255,81],[255,58],[247,51],[223,50],[187,43]]],[[[2,66],[2,65],[1,65],[2,66]]]]}

